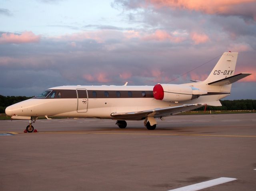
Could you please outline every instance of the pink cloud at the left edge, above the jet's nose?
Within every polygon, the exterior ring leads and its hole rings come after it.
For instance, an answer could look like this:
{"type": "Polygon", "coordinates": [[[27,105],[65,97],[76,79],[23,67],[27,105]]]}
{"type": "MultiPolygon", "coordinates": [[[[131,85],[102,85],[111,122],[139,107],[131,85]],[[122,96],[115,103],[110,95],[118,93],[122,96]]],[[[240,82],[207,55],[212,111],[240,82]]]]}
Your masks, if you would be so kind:
{"type": "Polygon", "coordinates": [[[14,33],[3,33],[0,36],[0,44],[21,44],[21,43],[36,43],[39,42],[40,35],[35,35],[32,32],[23,32],[20,35],[14,33]]]}

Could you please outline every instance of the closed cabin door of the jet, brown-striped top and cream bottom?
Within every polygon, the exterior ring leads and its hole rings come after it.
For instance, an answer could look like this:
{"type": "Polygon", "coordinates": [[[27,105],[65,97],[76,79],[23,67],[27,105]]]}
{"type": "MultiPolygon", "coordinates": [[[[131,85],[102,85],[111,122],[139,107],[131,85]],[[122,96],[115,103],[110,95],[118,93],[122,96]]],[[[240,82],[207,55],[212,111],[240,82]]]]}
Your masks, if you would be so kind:
{"type": "Polygon", "coordinates": [[[88,92],[86,89],[76,89],[77,112],[85,113],[88,110],[88,92]]]}

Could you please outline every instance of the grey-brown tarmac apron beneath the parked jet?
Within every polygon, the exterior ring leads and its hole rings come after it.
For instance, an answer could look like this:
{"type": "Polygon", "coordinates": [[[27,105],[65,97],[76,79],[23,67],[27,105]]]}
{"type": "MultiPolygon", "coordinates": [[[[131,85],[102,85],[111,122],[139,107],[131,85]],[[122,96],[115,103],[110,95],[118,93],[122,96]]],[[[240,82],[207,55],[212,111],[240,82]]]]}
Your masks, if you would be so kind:
{"type": "MultiPolygon", "coordinates": [[[[202,191],[256,190],[256,114],[143,121],[0,121],[0,191],[169,191],[220,177],[202,191]]],[[[188,190],[188,189],[187,189],[188,190]]]]}

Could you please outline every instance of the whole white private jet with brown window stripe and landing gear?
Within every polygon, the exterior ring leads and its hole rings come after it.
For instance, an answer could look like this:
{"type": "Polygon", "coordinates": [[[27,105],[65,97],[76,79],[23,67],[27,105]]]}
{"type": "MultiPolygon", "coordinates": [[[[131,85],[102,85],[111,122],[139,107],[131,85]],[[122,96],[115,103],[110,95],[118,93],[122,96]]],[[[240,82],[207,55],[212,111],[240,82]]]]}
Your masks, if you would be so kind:
{"type": "Polygon", "coordinates": [[[210,105],[221,106],[220,99],[230,95],[232,83],[251,75],[234,75],[237,52],[225,52],[204,81],[155,86],[60,86],[43,91],[34,98],[8,106],[12,119],[29,120],[27,132],[38,117],[99,118],[116,120],[126,128],[127,120],[144,120],[148,130],[161,120],[181,112],[210,105]]]}

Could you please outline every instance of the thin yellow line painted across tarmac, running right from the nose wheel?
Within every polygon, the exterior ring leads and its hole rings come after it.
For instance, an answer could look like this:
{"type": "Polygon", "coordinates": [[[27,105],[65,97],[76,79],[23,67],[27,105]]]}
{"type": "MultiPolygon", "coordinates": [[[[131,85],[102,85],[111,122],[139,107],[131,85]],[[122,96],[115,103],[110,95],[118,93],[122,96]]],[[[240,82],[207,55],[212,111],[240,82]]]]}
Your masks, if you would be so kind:
{"type": "Polygon", "coordinates": [[[158,133],[93,133],[93,132],[38,132],[46,134],[108,134],[108,135],[169,135],[169,136],[215,136],[215,137],[253,137],[253,135],[202,135],[202,134],[158,134],[158,133]]]}

